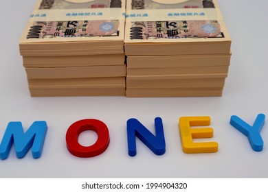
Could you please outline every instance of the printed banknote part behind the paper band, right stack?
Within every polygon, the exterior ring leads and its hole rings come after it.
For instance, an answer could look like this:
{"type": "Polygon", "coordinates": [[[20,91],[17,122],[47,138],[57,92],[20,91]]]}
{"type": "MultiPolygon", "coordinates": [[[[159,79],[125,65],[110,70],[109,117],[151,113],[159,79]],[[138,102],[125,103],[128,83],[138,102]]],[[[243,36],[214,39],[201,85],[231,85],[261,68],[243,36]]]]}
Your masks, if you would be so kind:
{"type": "Polygon", "coordinates": [[[212,0],[131,0],[132,10],[214,8],[212,0]]]}

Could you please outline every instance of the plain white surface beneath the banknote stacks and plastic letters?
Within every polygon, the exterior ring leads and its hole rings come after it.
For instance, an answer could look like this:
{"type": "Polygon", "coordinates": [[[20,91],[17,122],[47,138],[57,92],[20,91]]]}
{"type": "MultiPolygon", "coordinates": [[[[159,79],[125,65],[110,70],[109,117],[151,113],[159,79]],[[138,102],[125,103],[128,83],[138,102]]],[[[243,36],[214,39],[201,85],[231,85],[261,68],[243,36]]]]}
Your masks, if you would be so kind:
{"type": "Polygon", "coordinates": [[[8,159],[0,160],[0,178],[268,177],[268,123],[261,132],[263,152],[254,152],[247,138],[229,123],[232,115],[249,124],[260,112],[268,115],[266,0],[219,0],[232,37],[232,63],[223,97],[204,98],[30,97],[19,38],[34,3],[1,3],[0,139],[10,121],[22,121],[25,129],[34,121],[47,121],[47,136],[37,160],[31,152],[17,159],[12,148],[8,159]],[[219,152],[183,154],[178,128],[182,116],[210,116],[214,128],[210,141],[219,143],[219,152]],[[155,156],[138,141],[137,156],[128,156],[126,121],[133,117],[151,130],[155,117],[162,118],[166,154],[155,156]],[[65,132],[80,119],[100,119],[107,124],[111,143],[104,154],[95,158],[69,154],[65,132]]]}

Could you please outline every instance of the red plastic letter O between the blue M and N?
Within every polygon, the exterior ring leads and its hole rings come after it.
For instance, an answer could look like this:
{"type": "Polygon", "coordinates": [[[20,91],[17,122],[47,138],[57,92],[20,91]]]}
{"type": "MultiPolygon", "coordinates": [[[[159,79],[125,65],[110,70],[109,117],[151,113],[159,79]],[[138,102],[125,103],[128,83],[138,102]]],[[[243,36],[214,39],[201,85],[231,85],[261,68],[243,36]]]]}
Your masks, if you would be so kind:
{"type": "Polygon", "coordinates": [[[83,119],[73,123],[66,133],[67,149],[71,154],[81,158],[88,158],[102,154],[110,143],[107,125],[98,119],[83,119]],[[98,134],[96,143],[91,146],[82,146],[78,143],[80,133],[92,130],[98,134]]]}

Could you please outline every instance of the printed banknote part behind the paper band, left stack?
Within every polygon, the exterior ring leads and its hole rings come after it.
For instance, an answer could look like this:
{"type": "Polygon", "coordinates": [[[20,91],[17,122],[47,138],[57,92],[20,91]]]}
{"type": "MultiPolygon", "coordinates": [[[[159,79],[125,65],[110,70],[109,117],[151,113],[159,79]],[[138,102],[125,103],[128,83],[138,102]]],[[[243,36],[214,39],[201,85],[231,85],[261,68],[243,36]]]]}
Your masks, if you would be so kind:
{"type": "Polygon", "coordinates": [[[121,8],[121,0],[41,0],[39,10],[121,8]]]}

